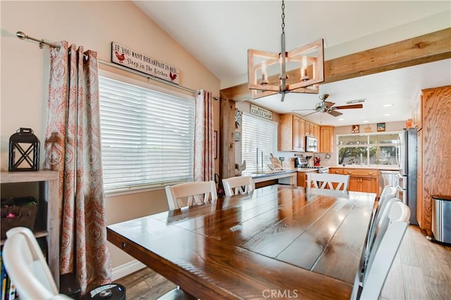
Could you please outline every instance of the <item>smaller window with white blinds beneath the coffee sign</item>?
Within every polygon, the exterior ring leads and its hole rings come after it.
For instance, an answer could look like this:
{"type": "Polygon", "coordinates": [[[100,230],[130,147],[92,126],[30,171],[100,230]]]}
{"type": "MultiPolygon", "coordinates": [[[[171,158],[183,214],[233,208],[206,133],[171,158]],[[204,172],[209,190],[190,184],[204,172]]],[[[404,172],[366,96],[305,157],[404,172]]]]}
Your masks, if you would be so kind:
{"type": "Polygon", "coordinates": [[[261,171],[261,155],[263,153],[263,170],[266,164],[270,164],[270,153],[277,153],[277,123],[243,113],[242,115],[242,138],[241,156],[246,161],[245,173],[261,171]]]}

